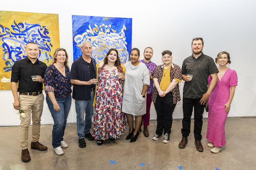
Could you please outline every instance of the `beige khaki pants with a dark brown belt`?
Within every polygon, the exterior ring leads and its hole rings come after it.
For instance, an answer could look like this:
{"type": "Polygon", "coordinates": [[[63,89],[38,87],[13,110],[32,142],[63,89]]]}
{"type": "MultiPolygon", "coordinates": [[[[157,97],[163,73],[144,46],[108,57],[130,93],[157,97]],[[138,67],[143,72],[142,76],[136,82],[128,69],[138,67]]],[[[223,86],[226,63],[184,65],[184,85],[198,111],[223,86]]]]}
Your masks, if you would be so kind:
{"type": "Polygon", "coordinates": [[[40,121],[43,112],[43,93],[37,96],[19,95],[20,107],[26,114],[26,118],[21,119],[20,140],[21,149],[27,149],[28,127],[32,117],[32,142],[37,142],[40,137],[40,121]],[[31,116],[32,115],[32,116],[31,116]]]}

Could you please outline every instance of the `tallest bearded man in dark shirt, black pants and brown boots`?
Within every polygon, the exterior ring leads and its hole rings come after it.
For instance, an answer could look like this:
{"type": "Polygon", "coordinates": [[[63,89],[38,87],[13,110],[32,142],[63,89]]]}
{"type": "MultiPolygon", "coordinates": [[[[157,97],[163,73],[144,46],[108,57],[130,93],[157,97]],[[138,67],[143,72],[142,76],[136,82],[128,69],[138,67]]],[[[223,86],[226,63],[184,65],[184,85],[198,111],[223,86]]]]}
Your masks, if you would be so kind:
{"type": "Polygon", "coordinates": [[[201,131],[203,126],[203,111],[205,103],[215,88],[218,76],[218,69],[212,57],[204,55],[203,38],[192,40],[192,56],[187,57],[182,64],[182,79],[185,81],[183,88],[183,119],[182,119],[182,139],[179,143],[180,148],[185,148],[187,137],[190,133],[191,115],[194,107],[194,137],[196,149],[203,152],[201,144],[201,131]],[[212,81],[208,85],[208,76],[212,81]]]}

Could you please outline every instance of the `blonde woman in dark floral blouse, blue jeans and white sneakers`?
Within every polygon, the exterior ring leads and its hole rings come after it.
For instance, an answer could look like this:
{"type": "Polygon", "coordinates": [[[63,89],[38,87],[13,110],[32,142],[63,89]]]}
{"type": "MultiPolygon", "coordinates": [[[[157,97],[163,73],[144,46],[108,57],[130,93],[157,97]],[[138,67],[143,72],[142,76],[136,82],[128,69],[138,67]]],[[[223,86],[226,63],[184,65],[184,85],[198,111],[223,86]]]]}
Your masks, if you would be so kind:
{"type": "Polygon", "coordinates": [[[57,48],[53,54],[53,62],[47,67],[44,75],[46,102],[52,114],[53,150],[57,155],[63,155],[62,148],[67,148],[64,142],[64,130],[71,106],[71,83],[69,79],[68,54],[64,48],[57,48]]]}

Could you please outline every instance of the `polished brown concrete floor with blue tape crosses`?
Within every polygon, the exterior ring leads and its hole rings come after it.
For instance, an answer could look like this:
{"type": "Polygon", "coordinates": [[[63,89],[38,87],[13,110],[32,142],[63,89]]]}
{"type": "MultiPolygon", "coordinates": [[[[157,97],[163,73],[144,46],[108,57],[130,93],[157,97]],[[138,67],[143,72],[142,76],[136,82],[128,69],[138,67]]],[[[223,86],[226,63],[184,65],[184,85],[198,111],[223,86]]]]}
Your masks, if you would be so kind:
{"type": "MultiPolygon", "coordinates": [[[[192,123],[193,125],[193,123],[192,123]]],[[[173,121],[168,144],[162,138],[153,141],[156,122],[150,122],[149,138],[141,133],[136,142],[121,139],[106,141],[98,146],[86,139],[87,146],[78,146],[76,124],[69,124],[64,140],[69,147],[65,154],[53,152],[52,125],[41,126],[39,142],[47,151],[29,149],[31,161],[21,161],[19,127],[0,127],[0,170],[255,170],[256,169],[256,118],[228,118],[226,146],[219,154],[210,152],[205,139],[207,120],[203,121],[203,152],[195,149],[193,133],[185,149],[179,149],[181,121],[173,121]],[[112,162],[113,163],[112,163],[112,162]],[[183,169],[181,169],[183,168],[183,169]]],[[[193,126],[192,126],[193,131],[193,126]]],[[[31,128],[29,140],[31,139],[31,128]]]]}

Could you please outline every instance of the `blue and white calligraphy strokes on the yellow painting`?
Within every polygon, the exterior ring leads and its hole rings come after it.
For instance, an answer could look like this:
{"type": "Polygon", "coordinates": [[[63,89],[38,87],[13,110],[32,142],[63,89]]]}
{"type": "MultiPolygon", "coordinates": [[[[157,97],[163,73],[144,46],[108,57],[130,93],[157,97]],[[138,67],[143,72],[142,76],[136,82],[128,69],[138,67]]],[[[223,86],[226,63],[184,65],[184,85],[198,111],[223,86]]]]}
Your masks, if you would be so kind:
{"type": "Polygon", "coordinates": [[[40,23],[16,23],[15,20],[11,27],[5,27],[0,24],[0,46],[3,47],[3,60],[6,61],[4,67],[5,72],[11,72],[14,62],[26,58],[25,47],[30,41],[35,42],[40,49],[38,59],[40,61],[49,62],[52,44],[51,38],[48,36],[49,30],[47,26],[41,26],[40,23]]]}

